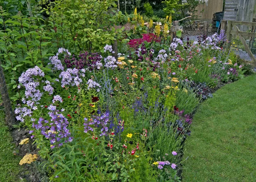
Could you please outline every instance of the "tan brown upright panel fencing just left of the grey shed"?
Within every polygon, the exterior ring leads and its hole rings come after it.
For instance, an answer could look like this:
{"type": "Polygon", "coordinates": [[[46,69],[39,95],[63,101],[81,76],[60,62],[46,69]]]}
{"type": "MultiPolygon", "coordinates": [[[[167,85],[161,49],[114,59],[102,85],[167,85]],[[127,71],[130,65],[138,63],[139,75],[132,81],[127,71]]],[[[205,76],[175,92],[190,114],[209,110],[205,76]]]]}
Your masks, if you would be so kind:
{"type": "Polygon", "coordinates": [[[195,15],[198,19],[212,20],[213,14],[222,11],[223,0],[208,0],[207,3],[200,4],[196,7],[195,15]]]}

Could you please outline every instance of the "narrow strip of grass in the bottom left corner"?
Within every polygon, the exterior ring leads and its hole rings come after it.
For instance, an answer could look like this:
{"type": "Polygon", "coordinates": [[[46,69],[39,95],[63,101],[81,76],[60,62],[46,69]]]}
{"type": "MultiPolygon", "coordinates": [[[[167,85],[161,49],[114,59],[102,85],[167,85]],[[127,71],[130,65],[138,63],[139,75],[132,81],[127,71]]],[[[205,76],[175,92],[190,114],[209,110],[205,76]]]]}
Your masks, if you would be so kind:
{"type": "Polygon", "coordinates": [[[0,182],[17,182],[22,170],[19,165],[21,157],[13,154],[15,144],[4,119],[5,114],[0,109],[0,182]]]}

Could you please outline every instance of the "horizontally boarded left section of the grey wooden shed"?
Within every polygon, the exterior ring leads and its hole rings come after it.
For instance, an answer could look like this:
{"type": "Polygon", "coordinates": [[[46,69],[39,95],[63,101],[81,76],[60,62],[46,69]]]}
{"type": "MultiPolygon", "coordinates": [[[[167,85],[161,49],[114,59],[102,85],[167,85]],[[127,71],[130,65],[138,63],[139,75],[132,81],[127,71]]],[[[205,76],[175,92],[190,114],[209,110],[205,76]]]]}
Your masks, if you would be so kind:
{"type": "Polygon", "coordinates": [[[236,21],[239,0],[226,0],[223,20],[236,21]]]}

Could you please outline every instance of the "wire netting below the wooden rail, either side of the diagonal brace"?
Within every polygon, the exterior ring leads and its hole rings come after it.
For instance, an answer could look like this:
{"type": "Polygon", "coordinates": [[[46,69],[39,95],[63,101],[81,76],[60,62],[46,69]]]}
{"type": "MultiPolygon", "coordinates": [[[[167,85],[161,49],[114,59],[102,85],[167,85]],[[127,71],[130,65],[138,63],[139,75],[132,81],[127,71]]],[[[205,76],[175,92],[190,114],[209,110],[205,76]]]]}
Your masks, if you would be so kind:
{"type": "MultiPolygon", "coordinates": [[[[255,37],[248,37],[248,39],[245,39],[245,42],[247,46],[250,48],[250,50],[253,53],[253,56],[256,58],[256,41],[255,37]]],[[[231,50],[235,52],[236,55],[239,55],[243,60],[245,61],[252,61],[249,54],[246,52],[243,43],[239,39],[239,37],[233,37],[231,41],[231,50]]]]}

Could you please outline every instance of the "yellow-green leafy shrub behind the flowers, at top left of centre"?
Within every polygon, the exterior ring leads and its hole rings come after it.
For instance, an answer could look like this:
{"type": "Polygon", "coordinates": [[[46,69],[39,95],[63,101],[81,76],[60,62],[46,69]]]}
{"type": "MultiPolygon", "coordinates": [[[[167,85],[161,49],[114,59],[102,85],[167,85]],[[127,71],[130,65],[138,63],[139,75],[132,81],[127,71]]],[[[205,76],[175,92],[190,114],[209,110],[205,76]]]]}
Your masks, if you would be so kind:
{"type": "MultiPolygon", "coordinates": [[[[65,33],[65,46],[70,51],[103,51],[106,44],[122,39],[123,28],[115,28],[123,19],[121,11],[117,11],[115,0],[61,0],[55,1],[52,8],[46,11],[62,37],[65,33]]],[[[55,28],[55,29],[56,29],[55,28]]]]}

